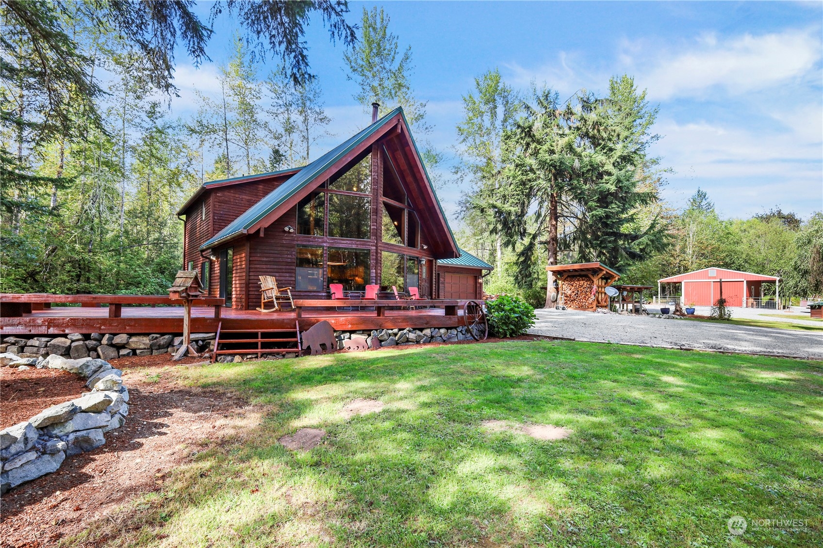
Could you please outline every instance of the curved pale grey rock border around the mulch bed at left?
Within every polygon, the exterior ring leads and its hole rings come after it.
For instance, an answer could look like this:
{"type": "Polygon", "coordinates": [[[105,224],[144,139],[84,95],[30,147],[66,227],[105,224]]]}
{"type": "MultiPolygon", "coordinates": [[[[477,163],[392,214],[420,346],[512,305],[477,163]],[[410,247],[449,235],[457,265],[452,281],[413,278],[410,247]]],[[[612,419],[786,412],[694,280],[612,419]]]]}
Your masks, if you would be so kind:
{"type": "Polygon", "coordinates": [[[86,387],[91,388],[91,392],[83,392],[70,402],[51,406],[29,420],[0,430],[2,493],[56,471],[67,456],[100,447],[105,444],[103,434],[126,421],[128,389],[123,386],[123,372],[105,360],[67,360],[60,355],[21,358],[2,353],[0,364],[63,369],[85,377],[86,387]]]}

